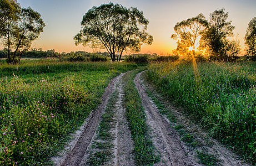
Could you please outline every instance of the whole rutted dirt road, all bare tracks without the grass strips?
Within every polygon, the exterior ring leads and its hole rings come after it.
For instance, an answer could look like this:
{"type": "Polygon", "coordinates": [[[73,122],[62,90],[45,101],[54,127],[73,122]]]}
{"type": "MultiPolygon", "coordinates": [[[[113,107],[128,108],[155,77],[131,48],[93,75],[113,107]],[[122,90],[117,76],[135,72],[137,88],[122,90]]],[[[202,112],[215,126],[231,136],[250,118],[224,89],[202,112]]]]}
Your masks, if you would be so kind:
{"type": "MultiPolygon", "coordinates": [[[[108,151],[111,152],[108,154],[111,156],[107,158],[108,160],[104,162],[104,165],[135,165],[132,153],[133,141],[126,119],[126,109],[123,104],[123,75],[124,74],[121,74],[111,80],[101,98],[101,105],[89,116],[88,120],[81,128],[82,131],[74,135],[75,138],[73,142],[67,146],[69,148],[66,148],[64,155],[53,159],[55,165],[89,165],[89,158],[92,158],[92,154],[99,150],[99,148],[96,148],[95,144],[97,144],[97,142],[104,143],[103,139],[98,138],[99,132],[97,128],[113,92],[116,92],[117,97],[113,105],[113,121],[109,123],[111,126],[109,132],[111,133],[111,137],[113,137],[110,142],[111,146],[109,146],[110,148],[108,149],[108,151]]],[[[202,143],[202,146],[199,146],[199,148],[191,148],[182,141],[182,136],[174,129],[173,123],[171,123],[167,117],[159,113],[152,99],[148,96],[145,87],[151,90],[153,90],[153,87],[150,86],[147,81],[143,81],[143,85],[141,80],[143,77],[140,77],[141,75],[142,72],[135,76],[134,82],[139,91],[140,98],[142,98],[153,144],[161,158],[160,163],[154,165],[203,165],[199,163],[198,154],[195,152],[202,151],[202,149],[203,151],[213,152],[213,154],[219,158],[219,165],[247,165],[235,159],[235,155],[217,141],[213,140],[213,144],[210,144],[210,146],[206,146],[202,143]]],[[[155,90],[153,91],[155,92],[155,90]]],[[[190,123],[188,118],[183,116],[182,112],[177,111],[175,106],[167,101],[164,102],[167,103],[167,108],[170,112],[173,112],[174,116],[177,118],[177,124],[183,124],[185,129],[197,128],[197,126],[193,126],[194,123],[190,123]]],[[[187,129],[187,132],[189,132],[189,129],[187,129]]],[[[193,134],[195,134],[193,137],[196,137],[199,141],[204,140],[205,133],[201,132],[200,128],[193,134]]],[[[94,159],[96,160],[96,158],[94,159]]]]}

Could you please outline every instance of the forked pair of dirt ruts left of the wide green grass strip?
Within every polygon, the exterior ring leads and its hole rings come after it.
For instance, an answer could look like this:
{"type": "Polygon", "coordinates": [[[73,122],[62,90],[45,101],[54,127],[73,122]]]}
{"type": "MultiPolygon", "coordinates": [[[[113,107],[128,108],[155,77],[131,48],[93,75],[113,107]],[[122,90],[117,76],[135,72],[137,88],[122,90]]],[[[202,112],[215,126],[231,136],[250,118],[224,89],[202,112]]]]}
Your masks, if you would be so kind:
{"type": "MultiPolygon", "coordinates": [[[[82,134],[76,138],[71,151],[64,154],[61,162],[56,165],[73,166],[73,165],[87,165],[90,151],[93,150],[92,144],[97,137],[97,128],[101,117],[106,109],[109,98],[111,98],[114,91],[118,92],[117,102],[115,104],[114,120],[116,125],[111,129],[114,137],[113,159],[105,165],[135,165],[133,160],[133,141],[129,131],[128,121],[125,116],[125,108],[123,106],[124,100],[124,84],[122,82],[121,74],[111,80],[106,91],[101,97],[102,103],[95,111],[91,113],[86,125],[83,127],[82,134]]],[[[93,150],[95,151],[95,149],[93,150]]],[[[97,151],[97,150],[96,150],[97,151]]]]}

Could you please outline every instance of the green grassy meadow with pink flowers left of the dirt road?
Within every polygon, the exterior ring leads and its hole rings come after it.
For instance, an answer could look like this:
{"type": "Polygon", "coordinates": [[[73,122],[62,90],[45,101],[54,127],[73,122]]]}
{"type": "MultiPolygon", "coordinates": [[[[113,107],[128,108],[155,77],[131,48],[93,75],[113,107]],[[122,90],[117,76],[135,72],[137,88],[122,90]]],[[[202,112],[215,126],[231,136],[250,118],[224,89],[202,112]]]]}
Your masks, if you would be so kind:
{"type": "Polygon", "coordinates": [[[0,165],[45,165],[125,63],[22,63],[0,69],[0,165]]]}

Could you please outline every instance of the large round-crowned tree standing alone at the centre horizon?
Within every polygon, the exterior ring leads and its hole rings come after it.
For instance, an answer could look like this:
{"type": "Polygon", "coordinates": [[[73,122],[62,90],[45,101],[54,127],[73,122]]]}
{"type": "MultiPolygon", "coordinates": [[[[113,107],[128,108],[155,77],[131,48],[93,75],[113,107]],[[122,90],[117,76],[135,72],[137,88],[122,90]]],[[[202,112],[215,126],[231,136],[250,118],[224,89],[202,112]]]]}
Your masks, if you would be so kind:
{"type": "Polygon", "coordinates": [[[83,16],[82,29],[74,36],[75,44],[107,49],[112,61],[120,61],[123,51],[138,52],[142,44],[152,44],[152,35],[145,32],[148,23],[137,8],[102,4],[83,16]]]}

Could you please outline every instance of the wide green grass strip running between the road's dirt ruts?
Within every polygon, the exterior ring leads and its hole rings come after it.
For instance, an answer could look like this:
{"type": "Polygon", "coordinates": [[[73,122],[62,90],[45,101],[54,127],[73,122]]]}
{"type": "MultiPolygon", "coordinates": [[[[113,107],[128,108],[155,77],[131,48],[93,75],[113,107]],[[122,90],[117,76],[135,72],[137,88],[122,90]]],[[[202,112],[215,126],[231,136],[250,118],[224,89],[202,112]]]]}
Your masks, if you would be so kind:
{"type": "Polygon", "coordinates": [[[152,165],[158,163],[160,157],[154,154],[155,148],[148,134],[149,131],[147,123],[145,123],[142,101],[134,85],[134,76],[138,72],[139,70],[124,75],[123,81],[126,82],[124,89],[126,94],[126,116],[134,141],[133,152],[135,154],[135,162],[138,165],[152,165]]]}

